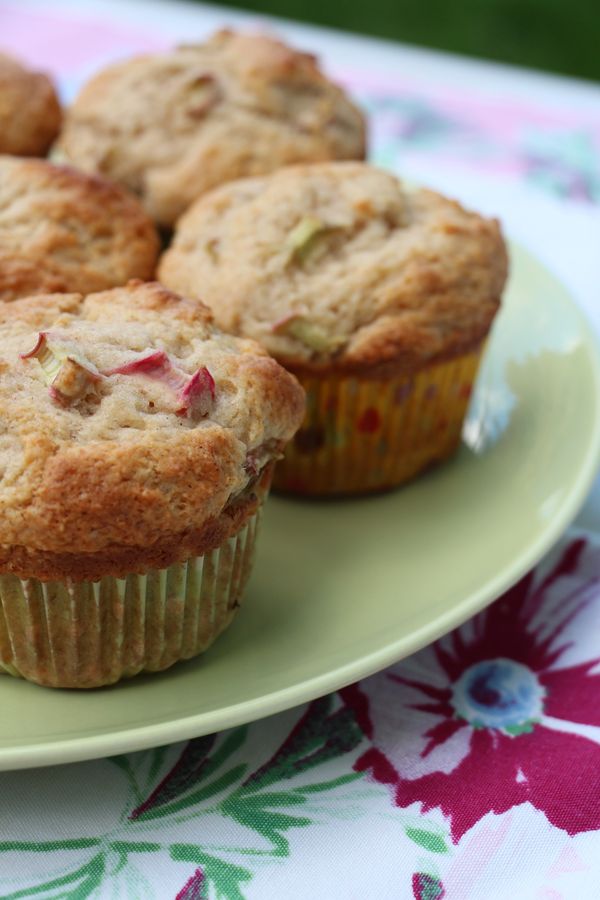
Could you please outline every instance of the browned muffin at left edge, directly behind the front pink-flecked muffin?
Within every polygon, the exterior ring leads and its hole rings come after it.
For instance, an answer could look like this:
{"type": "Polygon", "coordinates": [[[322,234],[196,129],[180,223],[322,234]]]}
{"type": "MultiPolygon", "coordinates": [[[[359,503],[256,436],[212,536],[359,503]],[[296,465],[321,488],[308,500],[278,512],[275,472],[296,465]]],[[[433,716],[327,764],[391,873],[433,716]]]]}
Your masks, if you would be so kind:
{"type": "Polygon", "coordinates": [[[158,250],[154,224],[124,188],[46,160],[0,156],[0,300],[148,279],[158,250]]]}

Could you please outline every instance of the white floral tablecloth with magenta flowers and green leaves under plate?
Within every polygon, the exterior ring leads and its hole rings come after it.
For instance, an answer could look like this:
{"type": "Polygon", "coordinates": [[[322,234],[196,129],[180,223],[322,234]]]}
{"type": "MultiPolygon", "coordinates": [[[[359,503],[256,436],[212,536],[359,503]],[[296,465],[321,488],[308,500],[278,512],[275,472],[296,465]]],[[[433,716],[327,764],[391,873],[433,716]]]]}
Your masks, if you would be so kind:
{"type": "MultiPolygon", "coordinates": [[[[249,19],[15,0],[0,43],[68,99],[110,59],[249,19]]],[[[500,215],[600,328],[598,88],[276,27],[369,110],[374,159],[500,215]]],[[[536,571],[384,672],[185,744],[0,775],[0,896],[600,897],[598,484],[536,571]]]]}

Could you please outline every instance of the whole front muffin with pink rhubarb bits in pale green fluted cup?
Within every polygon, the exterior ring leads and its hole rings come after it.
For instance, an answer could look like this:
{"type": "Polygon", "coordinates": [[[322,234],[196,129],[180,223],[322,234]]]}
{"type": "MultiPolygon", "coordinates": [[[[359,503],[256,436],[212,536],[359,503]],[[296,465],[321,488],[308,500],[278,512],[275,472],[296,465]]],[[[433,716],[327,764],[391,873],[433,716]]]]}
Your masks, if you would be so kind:
{"type": "Polygon", "coordinates": [[[0,307],[0,669],[88,688],[229,624],[296,380],[156,283],[0,307]]]}

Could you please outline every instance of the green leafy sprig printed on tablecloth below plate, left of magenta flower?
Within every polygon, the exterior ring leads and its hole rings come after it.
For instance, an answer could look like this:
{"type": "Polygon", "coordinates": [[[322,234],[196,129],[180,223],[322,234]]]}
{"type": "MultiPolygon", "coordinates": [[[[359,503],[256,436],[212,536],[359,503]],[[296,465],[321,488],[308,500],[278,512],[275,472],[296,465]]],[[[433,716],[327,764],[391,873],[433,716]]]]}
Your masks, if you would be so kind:
{"type": "MultiPolygon", "coordinates": [[[[289,832],[312,824],[315,799],[362,777],[359,772],[346,772],[328,778],[331,770],[322,769],[362,740],[353,713],[340,707],[335,695],[311,703],[275,753],[250,774],[238,752],[247,735],[248,728],[243,727],[189,741],[162,779],[159,773],[164,771],[169,748],[111,758],[109,762],[121,770],[129,788],[127,805],[111,828],[92,837],[0,842],[0,853],[51,857],[87,850],[88,860],[83,865],[78,860],[79,868],[67,867],[61,876],[55,875],[54,863],[52,878],[11,894],[2,893],[2,900],[87,900],[98,897],[99,891],[102,896],[119,892],[125,884],[135,896],[145,896],[147,885],[132,860],[144,854],[164,854],[173,862],[193,865],[194,871],[187,873],[187,887],[184,885],[188,893],[182,897],[243,900],[244,885],[253,873],[238,865],[238,859],[257,866],[259,860],[288,856],[289,832]],[[315,769],[321,777],[311,781],[315,769]],[[170,823],[180,827],[206,814],[226,816],[241,826],[231,843],[204,847],[204,832],[198,827],[194,829],[198,843],[173,842],[170,823]]],[[[0,861],[0,881],[2,871],[0,861]]],[[[186,877],[185,872],[182,875],[186,877]]],[[[26,876],[21,877],[25,884],[26,876]]]]}

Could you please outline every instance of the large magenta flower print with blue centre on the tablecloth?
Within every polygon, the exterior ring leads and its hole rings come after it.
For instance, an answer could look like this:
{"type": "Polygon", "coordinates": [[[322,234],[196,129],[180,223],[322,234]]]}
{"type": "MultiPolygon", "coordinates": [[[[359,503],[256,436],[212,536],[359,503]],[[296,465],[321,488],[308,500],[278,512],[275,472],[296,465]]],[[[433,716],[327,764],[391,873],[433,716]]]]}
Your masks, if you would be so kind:
{"type": "Polygon", "coordinates": [[[600,553],[585,550],[574,541],[540,583],[530,573],[468,626],[343,692],[372,741],[355,768],[398,806],[441,808],[455,842],[525,802],[570,835],[600,829],[600,743],[577,733],[600,726],[598,660],[560,664],[561,636],[592,602],[600,624],[600,553]]]}

